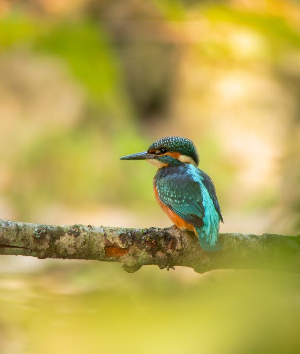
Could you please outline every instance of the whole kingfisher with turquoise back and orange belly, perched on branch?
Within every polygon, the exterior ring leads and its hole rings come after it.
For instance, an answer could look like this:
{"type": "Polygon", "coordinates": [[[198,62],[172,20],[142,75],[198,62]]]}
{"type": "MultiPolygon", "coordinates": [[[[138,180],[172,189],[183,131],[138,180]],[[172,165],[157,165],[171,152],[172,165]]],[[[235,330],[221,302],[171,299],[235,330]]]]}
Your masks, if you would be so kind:
{"type": "Polygon", "coordinates": [[[219,225],[223,221],[212,179],[198,168],[194,143],[183,137],[164,137],[147,151],[120,160],[146,160],[158,168],[153,180],[156,200],[180,229],[193,231],[206,252],[221,249],[219,225]]]}

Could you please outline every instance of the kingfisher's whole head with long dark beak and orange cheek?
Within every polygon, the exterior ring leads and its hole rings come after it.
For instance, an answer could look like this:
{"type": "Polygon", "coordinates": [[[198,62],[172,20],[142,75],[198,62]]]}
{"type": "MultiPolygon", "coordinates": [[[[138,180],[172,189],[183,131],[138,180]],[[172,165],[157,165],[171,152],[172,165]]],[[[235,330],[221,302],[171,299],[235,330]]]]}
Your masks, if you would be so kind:
{"type": "Polygon", "coordinates": [[[120,160],[146,160],[161,168],[182,164],[199,164],[197,149],[190,139],[182,137],[164,137],[153,142],[147,151],[121,157],[120,160]]]}

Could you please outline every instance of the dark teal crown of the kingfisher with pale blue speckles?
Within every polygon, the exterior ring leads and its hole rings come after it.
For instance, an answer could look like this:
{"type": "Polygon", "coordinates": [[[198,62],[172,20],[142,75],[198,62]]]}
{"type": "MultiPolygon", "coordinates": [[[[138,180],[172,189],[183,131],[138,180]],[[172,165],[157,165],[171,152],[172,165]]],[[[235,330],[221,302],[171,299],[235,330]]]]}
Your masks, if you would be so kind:
{"type": "Polygon", "coordinates": [[[196,146],[190,139],[182,137],[164,137],[153,142],[147,151],[163,149],[169,152],[180,152],[182,155],[190,156],[198,165],[199,156],[196,146]]]}

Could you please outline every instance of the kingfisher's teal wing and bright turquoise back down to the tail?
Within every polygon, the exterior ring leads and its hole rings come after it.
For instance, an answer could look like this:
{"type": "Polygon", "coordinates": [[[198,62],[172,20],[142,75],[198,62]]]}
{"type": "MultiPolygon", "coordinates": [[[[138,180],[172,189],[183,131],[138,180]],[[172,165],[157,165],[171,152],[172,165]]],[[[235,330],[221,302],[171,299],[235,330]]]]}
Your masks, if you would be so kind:
{"type": "Polygon", "coordinates": [[[161,170],[155,177],[161,202],[195,227],[200,246],[205,251],[219,250],[220,217],[204,185],[200,170],[194,166],[161,170]]]}

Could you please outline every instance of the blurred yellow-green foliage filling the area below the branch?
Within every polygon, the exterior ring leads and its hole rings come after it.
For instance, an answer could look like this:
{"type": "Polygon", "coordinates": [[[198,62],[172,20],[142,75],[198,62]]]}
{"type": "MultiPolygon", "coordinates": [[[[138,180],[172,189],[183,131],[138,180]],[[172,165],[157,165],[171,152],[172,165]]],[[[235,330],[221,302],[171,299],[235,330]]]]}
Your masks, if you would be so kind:
{"type": "Polygon", "coordinates": [[[297,275],[160,271],[153,278],[150,267],[134,276],[117,267],[68,262],[1,277],[2,353],[299,352],[297,275]]]}

